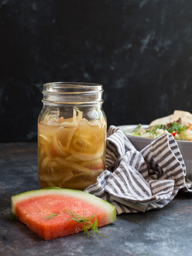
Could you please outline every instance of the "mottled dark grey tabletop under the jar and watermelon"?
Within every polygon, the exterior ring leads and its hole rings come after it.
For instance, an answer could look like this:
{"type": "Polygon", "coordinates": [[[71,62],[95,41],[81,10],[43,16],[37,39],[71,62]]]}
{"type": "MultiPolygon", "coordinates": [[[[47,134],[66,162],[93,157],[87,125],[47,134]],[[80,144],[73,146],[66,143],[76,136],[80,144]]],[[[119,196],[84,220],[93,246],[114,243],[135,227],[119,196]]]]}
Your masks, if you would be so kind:
{"type": "Polygon", "coordinates": [[[155,211],[122,214],[99,228],[107,238],[78,233],[44,241],[21,222],[7,219],[10,198],[38,189],[37,143],[0,143],[0,255],[192,255],[192,195],[178,193],[155,211]]]}

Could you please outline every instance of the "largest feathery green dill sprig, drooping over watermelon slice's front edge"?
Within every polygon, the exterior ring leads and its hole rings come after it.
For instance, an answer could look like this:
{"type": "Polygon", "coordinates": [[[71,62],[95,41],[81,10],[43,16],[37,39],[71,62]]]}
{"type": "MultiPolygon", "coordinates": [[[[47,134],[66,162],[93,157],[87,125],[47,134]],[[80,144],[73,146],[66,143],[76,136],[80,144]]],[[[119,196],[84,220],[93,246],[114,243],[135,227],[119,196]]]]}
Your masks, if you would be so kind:
{"type": "Polygon", "coordinates": [[[68,220],[74,220],[75,222],[77,222],[75,225],[77,225],[78,223],[84,224],[84,228],[82,230],[84,231],[84,234],[87,233],[87,237],[91,236],[91,234],[89,233],[89,229],[91,229],[93,235],[96,238],[98,238],[98,236],[96,234],[106,237],[106,236],[102,235],[101,233],[99,233],[99,231],[98,231],[97,217],[95,214],[92,216],[85,217],[84,211],[83,211],[83,216],[80,216],[76,212],[71,211],[69,209],[64,209],[64,211],[65,211],[65,213],[72,216],[72,218],[69,218],[68,220]],[[95,220],[92,222],[93,219],[95,219],[95,220]]]}

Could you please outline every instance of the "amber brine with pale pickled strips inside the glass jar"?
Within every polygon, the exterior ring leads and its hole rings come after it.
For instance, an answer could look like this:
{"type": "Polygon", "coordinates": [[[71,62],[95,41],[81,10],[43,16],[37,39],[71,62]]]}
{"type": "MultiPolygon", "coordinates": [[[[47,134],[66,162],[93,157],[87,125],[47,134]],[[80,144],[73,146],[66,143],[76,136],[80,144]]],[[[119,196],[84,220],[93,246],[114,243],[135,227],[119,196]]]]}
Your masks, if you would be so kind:
{"type": "Polygon", "coordinates": [[[106,121],[73,118],[38,123],[40,188],[84,190],[105,170],[106,121]]]}

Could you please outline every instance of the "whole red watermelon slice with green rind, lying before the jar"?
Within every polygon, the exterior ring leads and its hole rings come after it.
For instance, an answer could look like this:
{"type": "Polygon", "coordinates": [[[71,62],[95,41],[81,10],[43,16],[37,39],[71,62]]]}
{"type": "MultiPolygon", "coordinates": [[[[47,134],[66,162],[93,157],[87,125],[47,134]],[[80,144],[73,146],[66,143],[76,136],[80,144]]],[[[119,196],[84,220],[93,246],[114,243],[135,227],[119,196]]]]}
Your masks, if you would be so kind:
{"type": "Polygon", "coordinates": [[[64,188],[44,188],[12,196],[11,210],[45,240],[86,230],[89,235],[93,225],[98,233],[97,227],[116,221],[112,204],[89,193],[64,188]]]}

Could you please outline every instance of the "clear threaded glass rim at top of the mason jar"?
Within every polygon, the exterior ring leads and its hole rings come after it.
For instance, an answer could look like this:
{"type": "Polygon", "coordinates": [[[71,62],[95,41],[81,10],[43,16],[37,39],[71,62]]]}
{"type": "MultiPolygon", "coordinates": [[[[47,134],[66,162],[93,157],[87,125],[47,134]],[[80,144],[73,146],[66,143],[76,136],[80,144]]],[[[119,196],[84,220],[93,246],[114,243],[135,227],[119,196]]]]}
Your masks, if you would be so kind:
{"type": "Polygon", "coordinates": [[[44,104],[78,104],[97,105],[102,104],[103,85],[97,83],[55,82],[44,83],[44,104]]]}

